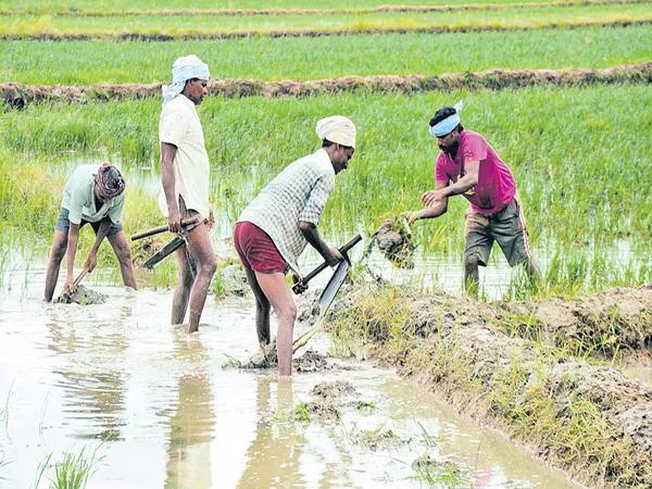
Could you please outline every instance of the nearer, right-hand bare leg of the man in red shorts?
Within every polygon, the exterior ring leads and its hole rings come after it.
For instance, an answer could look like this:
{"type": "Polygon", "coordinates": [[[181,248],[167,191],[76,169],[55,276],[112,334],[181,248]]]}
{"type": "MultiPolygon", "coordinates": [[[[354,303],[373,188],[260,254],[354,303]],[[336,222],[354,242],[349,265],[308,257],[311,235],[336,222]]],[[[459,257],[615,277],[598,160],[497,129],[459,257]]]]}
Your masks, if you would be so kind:
{"type": "Polygon", "coordinates": [[[292,293],[284,274],[254,273],[261,290],[272,303],[276,317],[278,317],[278,333],[276,335],[278,375],[292,375],[292,330],[297,318],[294,299],[292,299],[292,293]]]}

